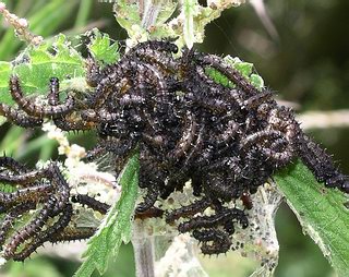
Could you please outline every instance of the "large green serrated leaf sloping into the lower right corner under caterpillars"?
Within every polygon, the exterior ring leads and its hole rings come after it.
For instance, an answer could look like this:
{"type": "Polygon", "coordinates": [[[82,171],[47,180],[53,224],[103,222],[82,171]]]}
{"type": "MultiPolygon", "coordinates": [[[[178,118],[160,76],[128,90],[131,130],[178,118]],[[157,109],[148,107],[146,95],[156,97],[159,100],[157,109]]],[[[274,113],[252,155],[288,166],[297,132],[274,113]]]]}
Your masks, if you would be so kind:
{"type": "Polygon", "coordinates": [[[274,177],[303,230],[318,244],[338,276],[348,276],[349,210],[345,194],[326,189],[297,162],[274,177]]]}

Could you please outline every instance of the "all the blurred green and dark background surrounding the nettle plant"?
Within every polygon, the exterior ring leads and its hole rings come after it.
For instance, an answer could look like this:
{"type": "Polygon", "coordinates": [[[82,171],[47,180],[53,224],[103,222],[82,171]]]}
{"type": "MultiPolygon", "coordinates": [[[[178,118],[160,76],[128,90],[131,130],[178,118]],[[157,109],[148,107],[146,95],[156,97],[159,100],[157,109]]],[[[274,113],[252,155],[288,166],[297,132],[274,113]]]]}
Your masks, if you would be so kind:
{"type": "MultiPolygon", "coordinates": [[[[10,11],[25,16],[31,31],[44,37],[62,32],[81,34],[91,27],[107,32],[113,39],[125,39],[125,32],[116,23],[111,3],[96,0],[11,0],[3,1],[10,11]]],[[[253,62],[266,85],[278,98],[296,104],[299,112],[349,109],[349,1],[347,0],[269,0],[266,10],[275,32],[263,25],[251,4],[224,12],[209,24],[206,52],[238,56],[253,62]]],[[[0,60],[9,61],[23,47],[12,27],[1,19],[0,60]]],[[[344,172],[349,173],[348,128],[311,130],[316,141],[334,154],[344,172]]],[[[72,136],[84,144],[84,136],[72,136]]],[[[27,162],[55,157],[55,143],[38,131],[0,127],[0,150],[7,150],[27,162]]],[[[276,228],[280,244],[277,277],[333,276],[328,262],[301,228],[286,205],[277,213],[276,228]]],[[[132,277],[132,248],[125,245],[118,262],[105,276],[132,277]]],[[[255,263],[230,253],[218,258],[205,258],[210,276],[249,276],[255,263]]],[[[71,276],[79,263],[72,258],[38,256],[22,263],[9,263],[1,276],[63,277],[71,276]]],[[[96,275],[98,276],[98,275],[96,275]]]]}

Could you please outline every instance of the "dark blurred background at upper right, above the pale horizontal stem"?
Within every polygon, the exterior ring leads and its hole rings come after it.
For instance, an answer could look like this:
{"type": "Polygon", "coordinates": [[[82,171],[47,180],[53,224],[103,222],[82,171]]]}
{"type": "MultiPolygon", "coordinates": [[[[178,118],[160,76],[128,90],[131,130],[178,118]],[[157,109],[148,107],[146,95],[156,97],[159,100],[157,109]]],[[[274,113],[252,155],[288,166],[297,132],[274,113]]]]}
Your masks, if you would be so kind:
{"type": "Polygon", "coordinates": [[[349,106],[349,2],[265,1],[278,38],[249,5],[231,9],[208,26],[201,47],[253,61],[265,83],[304,109],[349,106]]]}

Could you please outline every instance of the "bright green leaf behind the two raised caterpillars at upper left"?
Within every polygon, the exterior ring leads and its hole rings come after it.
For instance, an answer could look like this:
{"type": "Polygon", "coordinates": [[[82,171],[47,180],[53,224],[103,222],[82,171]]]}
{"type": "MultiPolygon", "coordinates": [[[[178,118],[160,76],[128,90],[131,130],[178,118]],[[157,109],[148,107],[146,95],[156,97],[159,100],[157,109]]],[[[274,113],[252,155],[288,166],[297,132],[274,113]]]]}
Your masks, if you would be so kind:
{"type": "Polygon", "coordinates": [[[35,47],[28,46],[12,63],[0,63],[0,101],[13,104],[9,95],[9,77],[16,74],[25,94],[46,94],[49,80],[58,77],[61,84],[85,76],[84,59],[74,50],[64,35],[35,47]]]}

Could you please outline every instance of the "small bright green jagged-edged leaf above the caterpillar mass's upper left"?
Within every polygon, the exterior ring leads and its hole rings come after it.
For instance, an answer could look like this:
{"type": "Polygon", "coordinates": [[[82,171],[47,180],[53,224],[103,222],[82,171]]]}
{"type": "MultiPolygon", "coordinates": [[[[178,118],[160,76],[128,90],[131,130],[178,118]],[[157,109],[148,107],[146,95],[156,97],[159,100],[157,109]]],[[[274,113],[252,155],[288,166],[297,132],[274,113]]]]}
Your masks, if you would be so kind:
{"type": "Polygon", "coordinates": [[[117,62],[120,59],[118,44],[112,44],[108,34],[101,34],[96,28],[92,31],[92,34],[94,37],[88,46],[92,56],[106,64],[117,62]]]}

